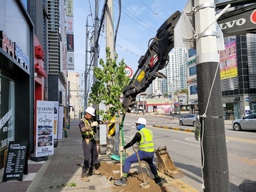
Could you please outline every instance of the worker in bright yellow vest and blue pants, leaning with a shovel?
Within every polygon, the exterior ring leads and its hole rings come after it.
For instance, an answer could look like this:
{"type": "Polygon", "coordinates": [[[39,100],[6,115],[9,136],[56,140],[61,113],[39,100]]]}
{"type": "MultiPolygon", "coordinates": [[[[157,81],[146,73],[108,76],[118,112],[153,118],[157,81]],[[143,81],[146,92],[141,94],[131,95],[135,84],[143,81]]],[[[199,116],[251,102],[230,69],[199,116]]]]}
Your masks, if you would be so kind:
{"type": "MultiPolygon", "coordinates": [[[[140,161],[146,161],[148,163],[152,174],[154,174],[155,183],[157,183],[158,185],[161,185],[162,179],[157,174],[157,167],[153,163],[153,158],[154,158],[153,133],[148,128],[145,128],[146,126],[145,118],[138,118],[138,121],[136,121],[135,124],[138,132],[135,134],[135,137],[133,137],[131,142],[129,142],[127,145],[124,145],[124,147],[120,147],[120,151],[126,150],[127,148],[134,145],[135,142],[138,142],[138,155],[139,155],[140,161]]],[[[132,163],[135,163],[135,162],[138,162],[138,157],[136,153],[133,153],[124,161],[123,175],[119,180],[114,182],[114,185],[118,185],[118,186],[127,185],[127,176],[129,174],[129,169],[132,163]]]]}

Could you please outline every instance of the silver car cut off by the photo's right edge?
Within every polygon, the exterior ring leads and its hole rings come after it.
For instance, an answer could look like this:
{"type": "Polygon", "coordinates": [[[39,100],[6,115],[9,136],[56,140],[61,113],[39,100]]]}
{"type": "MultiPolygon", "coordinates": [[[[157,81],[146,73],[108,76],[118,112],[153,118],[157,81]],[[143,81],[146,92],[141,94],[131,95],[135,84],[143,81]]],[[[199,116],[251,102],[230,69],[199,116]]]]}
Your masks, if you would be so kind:
{"type": "Polygon", "coordinates": [[[236,131],[256,130],[256,113],[247,115],[245,118],[233,120],[232,127],[236,131]]]}

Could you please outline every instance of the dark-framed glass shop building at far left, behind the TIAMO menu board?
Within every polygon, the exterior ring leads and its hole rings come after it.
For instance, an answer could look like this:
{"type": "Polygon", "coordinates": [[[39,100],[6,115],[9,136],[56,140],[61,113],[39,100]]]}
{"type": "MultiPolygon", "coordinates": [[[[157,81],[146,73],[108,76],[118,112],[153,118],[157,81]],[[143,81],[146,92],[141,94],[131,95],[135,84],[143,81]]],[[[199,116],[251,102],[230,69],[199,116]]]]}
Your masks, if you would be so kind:
{"type": "Polygon", "coordinates": [[[22,1],[0,4],[1,169],[10,141],[34,147],[34,32],[22,1]]]}

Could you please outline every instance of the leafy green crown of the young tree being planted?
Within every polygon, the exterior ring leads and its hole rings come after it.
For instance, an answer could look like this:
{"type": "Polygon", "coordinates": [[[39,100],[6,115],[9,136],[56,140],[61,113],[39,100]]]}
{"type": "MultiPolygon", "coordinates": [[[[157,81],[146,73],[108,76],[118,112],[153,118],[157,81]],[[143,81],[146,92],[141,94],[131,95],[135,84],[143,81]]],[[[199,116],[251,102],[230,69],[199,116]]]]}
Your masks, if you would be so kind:
{"type": "Polygon", "coordinates": [[[121,105],[120,97],[124,91],[124,87],[129,83],[129,77],[125,73],[127,66],[122,59],[118,64],[116,62],[118,55],[111,58],[110,48],[106,48],[107,61],[100,59],[99,65],[101,67],[94,68],[94,75],[96,82],[91,86],[91,93],[89,95],[89,103],[105,104],[107,111],[99,110],[103,120],[110,120],[113,115],[124,112],[121,105]]]}

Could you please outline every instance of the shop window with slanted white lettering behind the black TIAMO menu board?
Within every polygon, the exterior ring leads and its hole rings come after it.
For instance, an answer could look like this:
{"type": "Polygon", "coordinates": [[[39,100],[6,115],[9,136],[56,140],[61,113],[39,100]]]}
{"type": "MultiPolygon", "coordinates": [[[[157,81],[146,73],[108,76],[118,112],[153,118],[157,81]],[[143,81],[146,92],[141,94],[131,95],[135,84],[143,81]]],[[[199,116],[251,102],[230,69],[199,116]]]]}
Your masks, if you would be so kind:
{"type": "Polygon", "coordinates": [[[15,139],[15,82],[0,74],[0,169],[4,166],[4,151],[15,139]]]}

